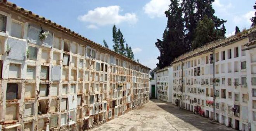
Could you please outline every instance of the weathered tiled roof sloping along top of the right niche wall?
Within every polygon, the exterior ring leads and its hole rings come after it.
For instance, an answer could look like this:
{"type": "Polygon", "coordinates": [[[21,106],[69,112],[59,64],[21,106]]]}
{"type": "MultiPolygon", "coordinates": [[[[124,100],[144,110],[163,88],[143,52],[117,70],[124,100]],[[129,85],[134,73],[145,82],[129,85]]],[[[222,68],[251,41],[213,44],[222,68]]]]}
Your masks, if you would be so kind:
{"type": "MultiPolygon", "coordinates": [[[[209,51],[211,51],[213,49],[216,49],[218,47],[228,45],[232,42],[235,42],[236,40],[244,39],[244,38],[248,37],[249,34],[255,33],[255,32],[256,32],[256,27],[253,27],[253,28],[248,29],[244,32],[241,32],[240,34],[228,37],[227,39],[220,39],[220,40],[216,40],[214,42],[208,43],[208,44],[204,45],[203,47],[199,47],[199,48],[197,48],[193,51],[190,51],[190,52],[187,52],[183,55],[180,55],[173,62],[171,62],[171,64],[175,64],[177,62],[180,62],[180,61],[183,61],[183,60],[186,60],[186,59],[190,59],[191,57],[194,57],[196,55],[204,54],[204,53],[209,52],[209,51]]],[[[249,42],[249,43],[251,43],[251,42],[249,42]]],[[[253,43],[256,44],[256,42],[253,42],[253,43]]]]}

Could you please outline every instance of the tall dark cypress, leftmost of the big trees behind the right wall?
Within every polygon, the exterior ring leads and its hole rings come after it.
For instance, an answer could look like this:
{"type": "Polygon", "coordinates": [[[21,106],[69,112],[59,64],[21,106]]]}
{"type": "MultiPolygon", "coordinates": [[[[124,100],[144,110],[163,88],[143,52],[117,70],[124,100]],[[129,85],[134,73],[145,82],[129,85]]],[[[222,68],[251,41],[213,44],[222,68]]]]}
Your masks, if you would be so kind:
{"type": "Polygon", "coordinates": [[[171,0],[169,10],[164,12],[168,18],[167,27],[163,33],[163,40],[157,39],[156,47],[160,51],[157,66],[162,69],[169,66],[173,60],[186,52],[184,42],[184,18],[179,0],[171,0]]]}

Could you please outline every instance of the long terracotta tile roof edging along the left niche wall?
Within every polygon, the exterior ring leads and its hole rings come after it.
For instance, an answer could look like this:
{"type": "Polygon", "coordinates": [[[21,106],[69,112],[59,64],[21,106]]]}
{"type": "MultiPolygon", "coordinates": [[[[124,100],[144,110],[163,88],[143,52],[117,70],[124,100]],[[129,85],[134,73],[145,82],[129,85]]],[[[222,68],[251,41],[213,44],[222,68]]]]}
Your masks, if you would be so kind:
{"type": "Polygon", "coordinates": [[[110,54],[117,55],[117,56],[119,56],[119,57],[121,57],[121,58],[123,58],[125,60],[128,60],[128,61],[130,61],[132,63],[138,64],[139,66],[142,66],[142,67],[150,70],[149,67],[146,67],[146,66],[144,66],[144,65],[142,65],[140,63],[135,62],[134,60],[132,60],[132,59],[126,57],[126,56],[123,56],[121,54],[118,54],[118,53],[116,53],[116,52],[106,48],[106,47],[103,47],[102,45],[97,44],[97,43],[93,42],[92,40],[89,40],[89,39],[83,37],[82,35],[72,31],[71,29],[68,29],[66,27],[62,27],[61,25],[59,25],[59,24],[57,24],[55,22],[52,22],[52,20],[46,19],[45,17],[41,17],[41,16],[33,13],[30,10],[26,10],[24,8],[18,7],[15,3],[12,3],[12,2],[9,2],[9,1],[7,2],[7,0],[0,0],[0,6],[8,8],[9,10],[12,10],[12,11],[14,11],[16,13],[19,13],[19,15],[23,15],[24,17],[31,18],[31,19],[36,20],[38,22],[41,22],[41,23],[43,23],[43,24],[45,24],[47,26],[53,27],[53,28],[55,28],[57,30],[60,30],[60,31],[66,33],[67,35],[72,35],[73,37],[76,37],[76,38],[78,38],[80,40],[83,40],[83,41],[85,41],[85,42],[87,42],[87,43],[89,43],[91,45],[94,45],[95,47],[100,48],[100,49],[103,49],[103,50],[105,50],[106,52],[108,52],[110,54]]]}

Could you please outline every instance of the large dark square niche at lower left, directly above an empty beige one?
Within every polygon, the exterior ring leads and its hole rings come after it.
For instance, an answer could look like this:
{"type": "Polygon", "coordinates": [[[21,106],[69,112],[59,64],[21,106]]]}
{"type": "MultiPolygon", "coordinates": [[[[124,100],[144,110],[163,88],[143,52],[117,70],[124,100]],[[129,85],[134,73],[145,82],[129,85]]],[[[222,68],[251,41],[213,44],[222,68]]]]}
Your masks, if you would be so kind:
{"type": "Polygon", "coordinates": [[[19,89],[19,84],[8,83],[6,89],[6,100],[20,99],[21,91],[19,89]]]}

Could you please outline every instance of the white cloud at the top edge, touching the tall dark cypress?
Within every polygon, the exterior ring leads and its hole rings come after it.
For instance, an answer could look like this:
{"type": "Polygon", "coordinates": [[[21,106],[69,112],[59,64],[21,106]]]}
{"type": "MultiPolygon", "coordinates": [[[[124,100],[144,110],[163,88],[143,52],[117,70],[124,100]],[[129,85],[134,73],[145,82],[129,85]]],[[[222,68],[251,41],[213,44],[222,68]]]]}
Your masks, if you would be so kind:
{"type": "Polygon", "coordinates": [[[164,17],[164,12],[169,9],[170,0],[151,0],[144,7],[144,13],[150,18],[164,17]]]}

